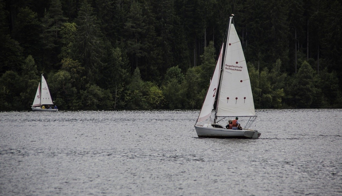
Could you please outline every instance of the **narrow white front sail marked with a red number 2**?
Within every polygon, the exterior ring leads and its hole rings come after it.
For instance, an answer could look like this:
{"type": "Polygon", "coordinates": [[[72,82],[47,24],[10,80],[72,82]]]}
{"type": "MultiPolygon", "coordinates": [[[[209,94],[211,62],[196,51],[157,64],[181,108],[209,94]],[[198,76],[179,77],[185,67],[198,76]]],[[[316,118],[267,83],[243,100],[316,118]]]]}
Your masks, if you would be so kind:
{"type": "Polygon", "coordinates": [[[197,122],[202,122],[207,120],[211,114],[211,110],[213,109],[217,88],[220,80],[220,67],[222,65],[222,52],[223,52],[223,44],[221,47],[219,59],[216,63],[216,67],[214,69],[213,77],[210,81],[209,89],[207,92],[207,96],[203,102],[201,112],[199,113],[197,122]]]}

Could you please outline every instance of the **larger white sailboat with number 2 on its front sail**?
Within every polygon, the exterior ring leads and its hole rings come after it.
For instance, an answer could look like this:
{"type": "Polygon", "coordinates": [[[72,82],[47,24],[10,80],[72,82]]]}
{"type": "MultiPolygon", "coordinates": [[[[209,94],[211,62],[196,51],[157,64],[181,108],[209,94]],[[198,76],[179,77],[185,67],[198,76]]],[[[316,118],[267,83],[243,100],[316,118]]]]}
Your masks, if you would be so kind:
{"type": "Polygon", "coordinates": [[[222,44],[207,95],[195,123],[200,138],[259,138],[261,133],[249,129],[257,118],[251,83],[240,39],[235,30],[233,14],[222,44]],[[212,121],[211,113],[215,107],[212,121]],[[227,129],[219,124],[226,118],[249,117],[242,130],[227,129]],[[207,119],[204,125],[197,125],[207,119]]]}

